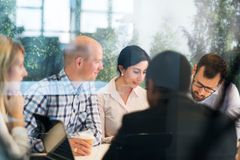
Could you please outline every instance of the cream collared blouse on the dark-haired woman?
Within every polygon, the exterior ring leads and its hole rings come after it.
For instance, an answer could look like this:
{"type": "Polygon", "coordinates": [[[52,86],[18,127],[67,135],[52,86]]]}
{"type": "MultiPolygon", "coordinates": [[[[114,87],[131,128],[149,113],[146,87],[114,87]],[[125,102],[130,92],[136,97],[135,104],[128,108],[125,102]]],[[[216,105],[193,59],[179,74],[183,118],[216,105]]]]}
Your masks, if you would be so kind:
{"type": "Polygon", "coordinates": [[[122,124],[123,115],[147,109],[146,90],[137,86],[130,93],[125,104],[120,94],[116,90],[115,80],[113,78],[105,87],[99,91],[99,110],[102,120],[103,134],[105,137],[116,135],[122,124]],[[104,134],[105,133],[105,134],[104,134]]]}

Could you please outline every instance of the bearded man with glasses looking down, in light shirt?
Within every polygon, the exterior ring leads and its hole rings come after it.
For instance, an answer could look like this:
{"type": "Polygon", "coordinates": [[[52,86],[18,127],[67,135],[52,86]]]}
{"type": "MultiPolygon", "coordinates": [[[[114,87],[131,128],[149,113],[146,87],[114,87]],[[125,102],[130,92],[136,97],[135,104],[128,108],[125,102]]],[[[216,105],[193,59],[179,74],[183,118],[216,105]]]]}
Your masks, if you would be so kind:
{"type": "MultiPolygon", "coordinates": [[[[219,109],[231,118],[240,115],[239,92],[233,83],[227,86],[223,97],[226,78],[226,62],[217,54],[204,55],[192,72],[191,93],[195,101],[208,105],[212,109],[219,109]],[[220,104],[221,98],[224,98],[220,104]]],[[[237,137],[240,138],[240,120],[236,122],[237,137]]]]}

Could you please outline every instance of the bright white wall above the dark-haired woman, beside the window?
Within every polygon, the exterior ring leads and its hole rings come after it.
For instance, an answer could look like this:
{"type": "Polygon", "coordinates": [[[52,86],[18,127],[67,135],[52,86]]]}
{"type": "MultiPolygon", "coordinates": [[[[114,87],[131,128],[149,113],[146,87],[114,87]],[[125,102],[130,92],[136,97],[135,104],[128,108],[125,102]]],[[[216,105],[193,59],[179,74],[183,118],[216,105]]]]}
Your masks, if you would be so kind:
{"type": "Polygon", "coordinates": [[[133,19],[139,33],[140,45],[149,51],[154,34],[168,23],[174,31],[177,31],[181,41],[178,50],[189,54],[180,27],[192,30],[195,13],[194,0],[134,0],[133,19]]]}

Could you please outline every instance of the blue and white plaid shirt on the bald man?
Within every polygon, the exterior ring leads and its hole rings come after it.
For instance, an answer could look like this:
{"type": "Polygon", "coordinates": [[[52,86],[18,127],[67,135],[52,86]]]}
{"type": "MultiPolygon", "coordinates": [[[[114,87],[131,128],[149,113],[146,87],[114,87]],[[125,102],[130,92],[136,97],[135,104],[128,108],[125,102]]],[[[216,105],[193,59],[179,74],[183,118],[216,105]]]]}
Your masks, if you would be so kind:
{"type": "Polygon", "coordinates": [[[83,82],[78,87],[74,86],[61,70],[59,74],[43,79],[28,90],[24,115],[33,151],[44,150],[42,141],[36,137],[39,128],[33,113],[62,121],[68,135],[89,130],[95,136],[94,145],[100,144],[101,121],[97,96],[92,93],[93,84],[83,82]]]}

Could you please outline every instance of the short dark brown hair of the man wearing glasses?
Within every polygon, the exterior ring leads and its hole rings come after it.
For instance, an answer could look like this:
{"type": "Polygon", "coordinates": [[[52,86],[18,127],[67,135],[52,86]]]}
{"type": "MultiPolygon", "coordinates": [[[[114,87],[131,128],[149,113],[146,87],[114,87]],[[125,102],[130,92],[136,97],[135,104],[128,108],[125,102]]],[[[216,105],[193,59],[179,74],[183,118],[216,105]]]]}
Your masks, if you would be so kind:
{"type": "Polygon", "coordinates": [[[204,55],[197,64],[196,73],[201,67],[205,67],[204,76],[207,78],[214,78],[218,73],[220,73],[221,83],[227,74],[227,65],[222,57],[215,53],[209,53],[204,55]]]}

